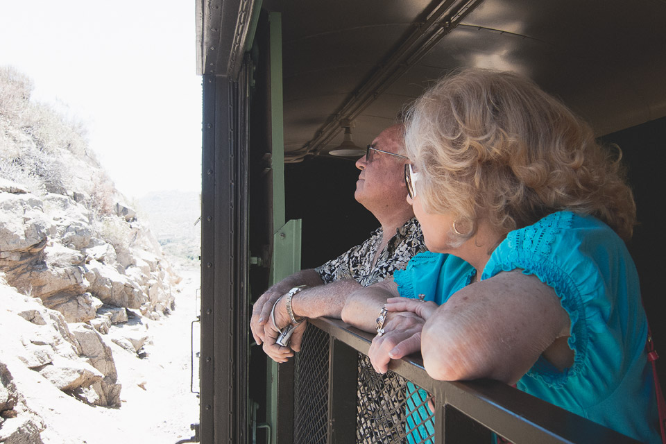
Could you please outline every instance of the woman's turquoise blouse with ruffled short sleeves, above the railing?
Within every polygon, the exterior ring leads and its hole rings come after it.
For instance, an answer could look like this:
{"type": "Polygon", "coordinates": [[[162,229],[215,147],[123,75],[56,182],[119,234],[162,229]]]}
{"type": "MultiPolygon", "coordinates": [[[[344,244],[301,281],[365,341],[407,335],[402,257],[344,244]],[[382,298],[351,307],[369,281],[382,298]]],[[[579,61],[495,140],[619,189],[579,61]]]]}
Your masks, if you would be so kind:
{"type": "MultiPolygon", "coordinates": [[[[556,212],[510,232],[481,280],[515,268],[556,291],[571,319],[568,343],[575,352],[573,366],[564,371],[538,359],[518,388],[642,442],[659,443],[645,352],[647,318],[638,273],[622,239],[592,216],[556,212]]],[[[472,275],[461,259],[422,253],[395,273],[395,282],[401,296],[425,293],[441,304],[472,275]]]]}

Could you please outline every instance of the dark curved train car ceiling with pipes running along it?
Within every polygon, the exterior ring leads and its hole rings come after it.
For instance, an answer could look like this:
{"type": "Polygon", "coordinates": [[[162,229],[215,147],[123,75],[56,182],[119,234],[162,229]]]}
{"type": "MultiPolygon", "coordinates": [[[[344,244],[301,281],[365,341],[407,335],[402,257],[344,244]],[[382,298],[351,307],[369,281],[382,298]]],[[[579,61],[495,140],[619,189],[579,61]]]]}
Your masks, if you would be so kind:
{"type": "Polygon", "coordinates": [[[434,79],[519,71],[606,135],[666,115],[660,0],[198,0],[198,70],[234,76],[264,10],[282,13],[286,162],[365,146],[434,79]]]}

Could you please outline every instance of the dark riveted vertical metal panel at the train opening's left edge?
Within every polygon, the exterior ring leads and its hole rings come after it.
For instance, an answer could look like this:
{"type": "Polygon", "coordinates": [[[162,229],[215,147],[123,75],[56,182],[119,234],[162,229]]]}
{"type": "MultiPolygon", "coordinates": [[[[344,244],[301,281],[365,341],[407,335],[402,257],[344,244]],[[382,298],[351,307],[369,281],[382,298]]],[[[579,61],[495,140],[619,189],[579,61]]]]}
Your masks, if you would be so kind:
{"type": "Polygon", "coordinates": [[[247,439],[246,81],[205,76],[201,246],[200,432],[247,439]]]}

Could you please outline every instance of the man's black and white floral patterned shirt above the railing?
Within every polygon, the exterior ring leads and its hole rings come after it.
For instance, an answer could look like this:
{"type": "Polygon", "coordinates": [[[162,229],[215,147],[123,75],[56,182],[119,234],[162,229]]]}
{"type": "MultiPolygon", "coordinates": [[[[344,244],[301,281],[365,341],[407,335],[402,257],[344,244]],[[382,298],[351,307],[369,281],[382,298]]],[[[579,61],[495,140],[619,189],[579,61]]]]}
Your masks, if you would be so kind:
{"type": "Polygon", "coordinates": [[[395,235],[379,253],[375,266],[373,266],[373,260],[377,248],[382,244],[383,236],[382,227],[377,228],[363,244],[350,248],[336,259],[315,268],[315,271],[319,273],[325,284],[352,278],[363,287],[368,287],[370,284],[391,277],[396,270],[403,270],[411,257],[427,251],[421,227],[416,218],[412,218],[395,231],[395,235]]]}

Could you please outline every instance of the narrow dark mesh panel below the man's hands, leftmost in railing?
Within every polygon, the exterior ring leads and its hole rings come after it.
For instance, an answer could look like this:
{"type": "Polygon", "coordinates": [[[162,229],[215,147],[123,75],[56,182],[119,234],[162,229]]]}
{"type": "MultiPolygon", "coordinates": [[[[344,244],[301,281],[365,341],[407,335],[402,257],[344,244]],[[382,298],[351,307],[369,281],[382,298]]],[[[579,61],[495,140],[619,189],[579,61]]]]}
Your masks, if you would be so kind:
{"type": "Polygon", "coordinates": [[[308,325],[296,354],[293,442],[326,443],[328,421],[328,334],[308,325]]]}

